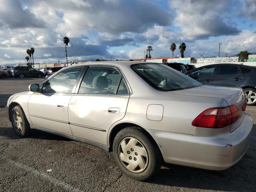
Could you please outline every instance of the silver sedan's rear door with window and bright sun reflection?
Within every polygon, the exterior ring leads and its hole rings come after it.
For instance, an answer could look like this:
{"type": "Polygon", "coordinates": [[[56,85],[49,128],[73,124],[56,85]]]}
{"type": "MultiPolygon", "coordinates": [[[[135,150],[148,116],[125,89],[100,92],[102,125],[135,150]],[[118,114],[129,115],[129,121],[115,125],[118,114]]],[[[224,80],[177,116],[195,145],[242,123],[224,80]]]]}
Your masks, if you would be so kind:
{"type": "Polygon", "coordinates": [[[107,145],[112,124],[121,120],[130,97],[121,72],[110,66],[90,66],[68,106],[74,136],[107,145]]]}

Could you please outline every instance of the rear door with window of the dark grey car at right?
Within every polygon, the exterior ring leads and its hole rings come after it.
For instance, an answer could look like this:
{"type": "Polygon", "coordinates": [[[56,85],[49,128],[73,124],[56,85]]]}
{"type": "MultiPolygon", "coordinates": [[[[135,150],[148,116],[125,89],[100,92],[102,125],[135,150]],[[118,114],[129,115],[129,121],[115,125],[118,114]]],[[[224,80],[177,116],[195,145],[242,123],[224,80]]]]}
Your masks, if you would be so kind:
{"type": "Polygon", "coordinates": [[[220,65],[214,76],[213,85],[239,87],[244,82],[244,75],[238,66],[220,65]]]}

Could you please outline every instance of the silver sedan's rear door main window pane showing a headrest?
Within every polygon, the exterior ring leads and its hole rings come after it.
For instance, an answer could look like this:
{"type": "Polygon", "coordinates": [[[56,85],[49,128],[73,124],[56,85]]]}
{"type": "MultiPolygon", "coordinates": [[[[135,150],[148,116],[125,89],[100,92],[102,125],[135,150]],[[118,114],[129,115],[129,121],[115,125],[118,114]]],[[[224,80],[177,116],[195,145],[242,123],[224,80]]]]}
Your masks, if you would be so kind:
{"type": "Polygon", "coordinates": [[[90,66],[84,75],[78,93],[116,94],[121,74],[115,68],[90,66]]]}

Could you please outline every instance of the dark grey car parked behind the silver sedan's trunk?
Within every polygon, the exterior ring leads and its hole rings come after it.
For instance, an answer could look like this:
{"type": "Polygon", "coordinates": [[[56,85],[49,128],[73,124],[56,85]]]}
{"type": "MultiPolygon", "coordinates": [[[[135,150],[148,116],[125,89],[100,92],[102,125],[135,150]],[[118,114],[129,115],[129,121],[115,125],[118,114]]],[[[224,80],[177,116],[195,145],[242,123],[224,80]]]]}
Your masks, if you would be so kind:
{"type": "Polygon", "coordinates": [[[213,64],[196,68],[186,74],[202,84],[243,88],[247,105],[256,104],[256,67],[213,64]]]}

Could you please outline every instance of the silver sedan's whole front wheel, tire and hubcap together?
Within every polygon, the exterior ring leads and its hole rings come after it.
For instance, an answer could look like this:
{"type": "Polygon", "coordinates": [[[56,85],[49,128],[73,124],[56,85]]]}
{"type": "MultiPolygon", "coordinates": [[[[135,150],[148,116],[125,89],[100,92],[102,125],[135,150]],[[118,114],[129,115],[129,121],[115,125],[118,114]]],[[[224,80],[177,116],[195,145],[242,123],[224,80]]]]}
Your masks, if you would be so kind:
{"type": "Polygon", "coordinates": [[[30,126],[20,105],[15,106],[11,112],[12,128],[14,132],[25,137],[30,132],[30,126]]]}

